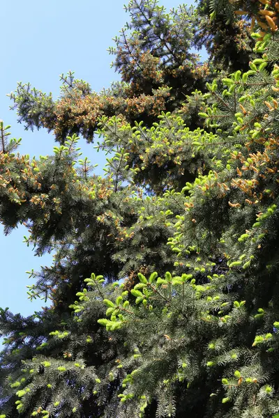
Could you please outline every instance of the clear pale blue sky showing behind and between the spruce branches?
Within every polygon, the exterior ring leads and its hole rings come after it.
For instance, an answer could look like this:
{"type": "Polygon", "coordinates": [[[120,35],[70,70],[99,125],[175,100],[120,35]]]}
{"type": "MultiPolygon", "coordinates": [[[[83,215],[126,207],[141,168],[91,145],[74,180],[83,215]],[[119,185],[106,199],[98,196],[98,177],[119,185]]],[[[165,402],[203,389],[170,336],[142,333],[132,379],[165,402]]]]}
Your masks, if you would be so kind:
{"type": "MultiPolygon", "coordinates": [[[[15,111],[9,111],[7,93],[15,90],[17,82],[30,82],[54,98],[59,95],[59,75],[75,71],[77,78],[89,82],[95,91],[110,86],[119,76],[110,68],[112,56],[106,51],[113,45],[112,38],[128,20],[123,10],[125,0],[13,0],[1,4],[0,36],[0,118],[12,125],[12,137],[22,137],[20,153],[47,155],[52,153],[52,134],[43,130],[25,131],[17,123],[15,111]]],[[[126,0],[128,3],[128,0],[126,0]]],[[[179,0],[161,0],[167,9],[183,3],[179,0]]],[[[194,1],[186,1],[188,5],[194,1]]],[[[93,146],[81,143],[84,156],[92,164],[100,163],[93,146]]],[[[25,272],[40,270],[40,265],[50,265],[51,256],[34,257],[23,242],[27,235],[19,227],[8,237],[0,225],[0,307],[9,307],[14,313],[26,316],[39,310],[43,302],[29,302],[25,272]]]]}

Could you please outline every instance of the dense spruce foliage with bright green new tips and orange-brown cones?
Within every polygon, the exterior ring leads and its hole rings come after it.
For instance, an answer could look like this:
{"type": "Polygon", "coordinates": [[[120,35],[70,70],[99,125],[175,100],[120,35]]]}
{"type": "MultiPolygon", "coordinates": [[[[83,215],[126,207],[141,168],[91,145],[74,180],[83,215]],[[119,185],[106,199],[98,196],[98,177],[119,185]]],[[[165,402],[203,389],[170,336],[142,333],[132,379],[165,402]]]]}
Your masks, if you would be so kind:
{"type": "Polygon", "coordinates": [[[127,10],[120,83],[11,95],[53,155],[0,126],[4,231],[55,252],[28,292],[50,307],[0,311],[0,417],[278,417],[279,4],[127,10]]]}

